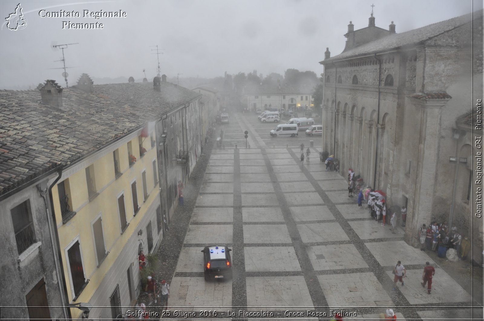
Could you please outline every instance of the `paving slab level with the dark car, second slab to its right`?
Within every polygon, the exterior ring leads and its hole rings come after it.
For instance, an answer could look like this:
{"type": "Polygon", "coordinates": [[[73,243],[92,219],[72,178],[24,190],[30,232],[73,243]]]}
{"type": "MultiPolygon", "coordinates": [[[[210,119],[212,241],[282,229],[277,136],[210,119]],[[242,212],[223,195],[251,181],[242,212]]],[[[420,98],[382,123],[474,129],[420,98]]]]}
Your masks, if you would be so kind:
{"type": "Polygon", "coordinates": [[[321,245],[306,250],[316,271],[368,267],[353,244],[321,245]]]}

